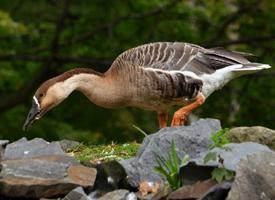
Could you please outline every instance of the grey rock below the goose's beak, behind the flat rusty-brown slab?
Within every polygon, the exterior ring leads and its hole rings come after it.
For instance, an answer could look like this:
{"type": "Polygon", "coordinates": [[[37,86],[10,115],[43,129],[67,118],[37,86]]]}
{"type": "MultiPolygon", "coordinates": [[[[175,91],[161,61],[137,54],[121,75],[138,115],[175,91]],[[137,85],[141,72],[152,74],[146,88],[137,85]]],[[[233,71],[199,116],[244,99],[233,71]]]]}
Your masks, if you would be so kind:
{"type": "Polygon", "coordinates": [[[65,155],[65,152],[58,142],[49,143],[41,138],[28,141],[26,138],[22,138],[7,145],[3,160],[31,158],[42,155],[65,155]]]}

